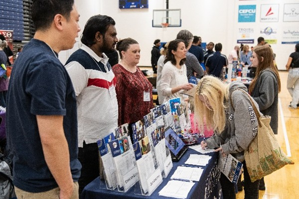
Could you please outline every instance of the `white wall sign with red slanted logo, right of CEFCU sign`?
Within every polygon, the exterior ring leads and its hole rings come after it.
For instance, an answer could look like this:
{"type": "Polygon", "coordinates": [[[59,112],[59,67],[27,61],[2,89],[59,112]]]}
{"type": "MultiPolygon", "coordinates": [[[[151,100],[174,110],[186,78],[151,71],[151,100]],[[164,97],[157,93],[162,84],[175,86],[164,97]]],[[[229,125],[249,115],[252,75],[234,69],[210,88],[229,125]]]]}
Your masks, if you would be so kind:
{"type": "Polygon", "coordinates": [[[261,22],[278,22],[279,4],[261,5],[261,22]]]}

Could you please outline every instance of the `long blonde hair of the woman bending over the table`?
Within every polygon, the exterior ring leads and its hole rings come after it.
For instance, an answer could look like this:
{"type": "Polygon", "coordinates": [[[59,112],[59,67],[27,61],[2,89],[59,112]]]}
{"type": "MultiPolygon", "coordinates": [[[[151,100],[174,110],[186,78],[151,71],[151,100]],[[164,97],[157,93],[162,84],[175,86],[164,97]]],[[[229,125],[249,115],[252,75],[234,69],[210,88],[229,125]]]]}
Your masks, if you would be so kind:
{"type": "Polygon", "coordinates": [[[201,130],[204,125],[219,133],[224,130],[228,96],[229,86],[214,76],[205,76],[198,82],[194,96],[194,117],[201,130]],[[207,107],[205,102],[199,99],[199,96],[208,101],[212,109],[207,107]]]}

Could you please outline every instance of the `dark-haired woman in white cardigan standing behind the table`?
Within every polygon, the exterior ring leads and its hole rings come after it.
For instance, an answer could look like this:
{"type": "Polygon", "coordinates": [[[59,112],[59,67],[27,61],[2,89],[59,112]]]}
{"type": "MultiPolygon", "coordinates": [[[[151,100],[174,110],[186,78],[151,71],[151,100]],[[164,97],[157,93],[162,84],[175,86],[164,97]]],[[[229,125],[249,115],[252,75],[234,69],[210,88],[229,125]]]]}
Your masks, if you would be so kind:
{"type": "Polygon", "coordinates": [[[182,90],[192,89],[188,83],[186,65],[186,47],[183,40],[175,39],[169,42],[165,65],[161,75],[161,92],[165,96],[164,102],[173,98],[180,98],[181,102],[186,100],[182,90]]]}

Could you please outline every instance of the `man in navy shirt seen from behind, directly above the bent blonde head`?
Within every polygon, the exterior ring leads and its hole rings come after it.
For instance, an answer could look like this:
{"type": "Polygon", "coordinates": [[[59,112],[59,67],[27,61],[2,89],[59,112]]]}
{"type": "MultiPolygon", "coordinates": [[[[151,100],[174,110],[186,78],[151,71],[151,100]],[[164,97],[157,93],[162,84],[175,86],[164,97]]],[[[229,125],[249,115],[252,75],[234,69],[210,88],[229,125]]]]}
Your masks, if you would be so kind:
{"type": "Polygon", "coordinates": [[[206,67],[209,69],[208,74],[218,78],[223,78],[223,67],[228,65],[228,61],[225,55],[221,54],[222,44],[217,43],[215,45],[215,53],[210,55],[206,62],[206,67]]]}

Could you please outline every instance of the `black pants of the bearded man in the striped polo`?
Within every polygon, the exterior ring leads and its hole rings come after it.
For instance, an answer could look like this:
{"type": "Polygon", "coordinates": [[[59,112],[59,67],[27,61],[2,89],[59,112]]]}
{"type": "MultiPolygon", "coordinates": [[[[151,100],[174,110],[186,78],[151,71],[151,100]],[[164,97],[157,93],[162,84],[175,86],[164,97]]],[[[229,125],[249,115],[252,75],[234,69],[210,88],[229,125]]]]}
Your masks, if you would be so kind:
{"type": "Polygon", "coordinates": [[[79,178],[79,196],[84,187],[99,176],[99,154],[97,143],[85,144],[79,147],[78,159],[82,164],[81,176],[79,178]]]}

